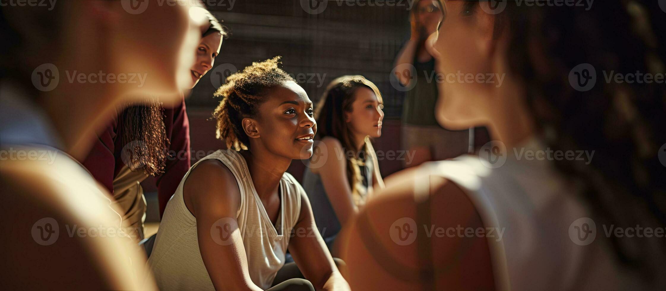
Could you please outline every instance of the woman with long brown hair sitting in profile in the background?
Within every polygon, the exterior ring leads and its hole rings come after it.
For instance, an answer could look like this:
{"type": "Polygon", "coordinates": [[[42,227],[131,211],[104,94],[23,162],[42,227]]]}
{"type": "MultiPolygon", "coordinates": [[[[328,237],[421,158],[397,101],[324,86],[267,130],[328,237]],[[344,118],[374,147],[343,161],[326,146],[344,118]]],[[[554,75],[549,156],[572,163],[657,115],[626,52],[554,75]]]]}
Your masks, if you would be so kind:
{"type": "Polygon", "coordinates": [[[329,250],[340,228],[374,188],[384,188],[370,138],[382,136],[384,101],[374,83],[362,76],[333,80],[316,107],[318,140],[306,164],[303,187],[314,220],[329,250]]]}

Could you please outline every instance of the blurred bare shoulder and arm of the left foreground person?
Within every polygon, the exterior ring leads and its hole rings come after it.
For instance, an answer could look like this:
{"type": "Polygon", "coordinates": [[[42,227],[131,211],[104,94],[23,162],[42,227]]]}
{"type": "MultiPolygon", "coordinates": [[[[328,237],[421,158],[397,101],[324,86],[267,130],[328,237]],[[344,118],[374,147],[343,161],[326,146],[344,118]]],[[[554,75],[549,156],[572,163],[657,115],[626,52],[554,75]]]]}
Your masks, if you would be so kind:
{"type": "Polygon", "coordinates": [[[157,290],[145,254],[120,235],[101,189],[77,180],[77,168],[40,163],[0,164],[0,231],[11,238],[3,244],[3,263],[11,266],[3,289],[157,290]]]}

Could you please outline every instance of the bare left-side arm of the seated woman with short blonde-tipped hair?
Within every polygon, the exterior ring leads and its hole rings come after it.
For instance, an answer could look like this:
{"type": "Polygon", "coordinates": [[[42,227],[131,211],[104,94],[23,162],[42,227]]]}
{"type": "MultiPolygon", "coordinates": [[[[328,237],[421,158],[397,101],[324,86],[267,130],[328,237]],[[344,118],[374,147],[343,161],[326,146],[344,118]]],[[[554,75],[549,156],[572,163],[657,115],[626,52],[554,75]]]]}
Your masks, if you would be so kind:
{"type": "Polygon", "coordinates": [[[240,190],[218,160],[205,160],[184,184],[184,200],[196,216],[196,233],[206,270],[216,290],[261,290],[250,279],[236,222],[240,190]]]}

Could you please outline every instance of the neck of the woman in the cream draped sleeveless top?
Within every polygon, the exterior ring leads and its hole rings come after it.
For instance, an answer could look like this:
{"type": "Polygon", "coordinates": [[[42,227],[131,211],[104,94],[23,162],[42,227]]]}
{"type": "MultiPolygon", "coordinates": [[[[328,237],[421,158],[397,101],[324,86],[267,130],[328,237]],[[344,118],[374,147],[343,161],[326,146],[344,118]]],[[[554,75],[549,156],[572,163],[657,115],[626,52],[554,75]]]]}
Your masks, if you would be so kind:
{"type": "Polygon", "coordinates": [[[262,146],[252,145],[252,150],[241,152],[248,164],[254,189],[259,197],[277,193],[282,175],[291,164],[290,158],[276,156],[262,146]]]}

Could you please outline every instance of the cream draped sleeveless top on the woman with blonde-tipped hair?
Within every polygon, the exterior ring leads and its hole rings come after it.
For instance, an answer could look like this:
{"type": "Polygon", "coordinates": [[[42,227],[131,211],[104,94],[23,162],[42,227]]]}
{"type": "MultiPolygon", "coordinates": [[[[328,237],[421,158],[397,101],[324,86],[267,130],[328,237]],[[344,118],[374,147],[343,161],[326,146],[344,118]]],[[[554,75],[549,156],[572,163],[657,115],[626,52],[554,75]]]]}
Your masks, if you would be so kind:
{"type": "MultiPolygon", "coordinates": [[[[203,160],[210,159],[220,160],[236,177],[240,189],[236,222],[242,237],[250,278],[260,288],[268,289],[278,270],[284,265],[290,233],[300,215],[303,188],[291,174],[285,172],[282,175],[280,212],[274,226],[254,189],[243,156],[236,150],[217,150],[196,162],[192,168],[203,160]]],[[[149,258],[160,290],[214,290],[201,258],[196,236],[196,218],[192,216],[182,198],[182,187],[192,168],[182,178],[176,192],[166,204],[155,246],[149,258]]],[[[225,219],[228,218],[220,218],[225,219]]],[[[219,230],[211,229],[210,235],[218,244],[224,244],[220,243],[220,236],[223,234],[220,234],[219,230]]]]}

